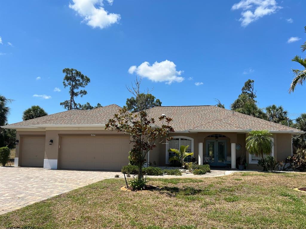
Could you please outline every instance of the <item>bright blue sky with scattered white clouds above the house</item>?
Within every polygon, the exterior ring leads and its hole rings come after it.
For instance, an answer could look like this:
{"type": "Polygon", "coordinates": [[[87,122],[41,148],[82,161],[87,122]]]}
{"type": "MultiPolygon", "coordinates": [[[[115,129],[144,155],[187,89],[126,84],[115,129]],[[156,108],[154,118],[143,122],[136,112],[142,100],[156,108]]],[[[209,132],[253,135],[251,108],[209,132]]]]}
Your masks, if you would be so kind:
{"type": "Polygon", "coordinates": [[[229,108],[250,78],[259,107],[282,105],[295,118],[306,112],[306,85],[288,93],[291,69],[300,68],[291,59],[305,56],[305,9],[305,1],[273,0],[1,1],[0,94],[15,100],[9,123],[32,105],[64,111],[64,68],[91,79],[79,103],[123,106],[125,85],[141,75],[162,105],[218,98],[229,108]]]}

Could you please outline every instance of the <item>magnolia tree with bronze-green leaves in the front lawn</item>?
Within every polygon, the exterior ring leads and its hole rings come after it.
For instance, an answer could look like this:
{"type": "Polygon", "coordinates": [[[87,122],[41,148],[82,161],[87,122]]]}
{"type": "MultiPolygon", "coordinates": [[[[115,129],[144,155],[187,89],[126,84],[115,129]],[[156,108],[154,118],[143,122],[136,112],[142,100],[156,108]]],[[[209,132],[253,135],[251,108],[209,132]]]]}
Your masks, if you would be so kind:
{"type": "MultiPolygon", "coordinates": [[[[141,79],[136,79],[135,87],[128,88],[134,96],[141,94],[140,81],[141,79]]],[[[140,100],[136,106],[143,107],[142,101],[140,100]]],[[[159,121],[161,124],[155,125],[155,119],[149,118],[149,110],[142,110],[133,114],[127,108],[122,108],[105,125],[105,129],[117,130],[131,136],[130,143],[133,146],[130,152],[130,159],[138,167],[138,180],[143,179],[142,167],[146,162],[147,153],[156,147],[156,140],[159,137],[162,139],[167,138],[171,132],[174,132],[170,125],[172,118],[163,115],[159,117],[159,121]]]]}

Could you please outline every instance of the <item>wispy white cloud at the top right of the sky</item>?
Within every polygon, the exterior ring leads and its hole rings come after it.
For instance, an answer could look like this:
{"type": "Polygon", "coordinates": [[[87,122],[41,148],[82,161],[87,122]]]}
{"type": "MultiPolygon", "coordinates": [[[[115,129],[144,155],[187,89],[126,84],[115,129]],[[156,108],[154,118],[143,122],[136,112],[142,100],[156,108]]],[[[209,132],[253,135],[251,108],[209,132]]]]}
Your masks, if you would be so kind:
{"type": "Polygon", "coordinates": [[[241,9],[241,26],[246,27],[248,24],[259,18],[276,13],[278,6],[275,0],[241,0],[232,6],[232,10],[241,9]]]}

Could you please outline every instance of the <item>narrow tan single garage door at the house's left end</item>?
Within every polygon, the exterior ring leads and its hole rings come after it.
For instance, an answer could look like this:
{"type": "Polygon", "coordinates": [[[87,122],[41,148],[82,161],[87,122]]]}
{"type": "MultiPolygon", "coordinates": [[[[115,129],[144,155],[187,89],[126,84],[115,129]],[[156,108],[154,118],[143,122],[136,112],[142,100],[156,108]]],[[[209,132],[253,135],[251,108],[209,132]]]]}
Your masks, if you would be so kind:
{"type": "Polygon", "coordinates": [[[21,166],[43,167],[45,137],[22,137],[21,166]]]}

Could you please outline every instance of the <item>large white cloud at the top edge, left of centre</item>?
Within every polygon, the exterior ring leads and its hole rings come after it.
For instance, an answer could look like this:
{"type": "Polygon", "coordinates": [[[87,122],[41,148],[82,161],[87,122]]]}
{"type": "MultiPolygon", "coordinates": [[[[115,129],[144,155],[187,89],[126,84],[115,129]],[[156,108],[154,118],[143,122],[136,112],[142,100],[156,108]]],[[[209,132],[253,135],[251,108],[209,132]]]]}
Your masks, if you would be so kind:
{"type": "MultiPolygon", "coordinates": [[[[113,4],[113,0],[107,2],[113,4]]],[[[75,10],[93,28],[103,29],[120,20],[120,14],[108,13],[103,8],[103,0],[73,0],[73,3],[69,4],[69,8],[75,10]]]]}

